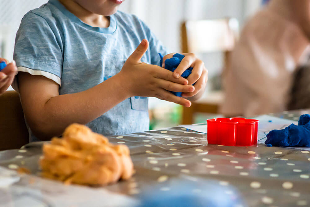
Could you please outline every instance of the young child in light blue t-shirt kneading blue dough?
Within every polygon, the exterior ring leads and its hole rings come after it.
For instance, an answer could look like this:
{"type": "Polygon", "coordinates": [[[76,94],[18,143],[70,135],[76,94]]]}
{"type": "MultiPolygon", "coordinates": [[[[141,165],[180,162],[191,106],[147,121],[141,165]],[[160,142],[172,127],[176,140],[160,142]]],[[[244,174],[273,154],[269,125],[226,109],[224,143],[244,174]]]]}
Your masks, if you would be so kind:
{"type": "Polygon", "coordinates": [[[71,123],[106,136],[145,131],[147,97],[189,107],[185,98],[201,96],[207,81],[203,62],[184,54],[174,73],[157,66],[165,47],[136,16],[117,11],[121,3],[50,0],[22,19],[13,86],[20,93],[30,141],[60,136],[71,123]],[[188,79],[180,77],[189,66],[188,79]],[[168,91],[183,92],[183,97],[168,91]]]}

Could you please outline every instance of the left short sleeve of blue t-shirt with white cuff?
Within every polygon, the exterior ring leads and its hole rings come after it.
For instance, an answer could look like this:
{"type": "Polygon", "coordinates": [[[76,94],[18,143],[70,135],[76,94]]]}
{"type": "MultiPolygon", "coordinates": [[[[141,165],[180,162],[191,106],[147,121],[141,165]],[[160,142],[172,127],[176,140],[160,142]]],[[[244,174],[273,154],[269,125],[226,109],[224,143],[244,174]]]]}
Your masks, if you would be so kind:
{"type": "MultiPolygon", "coordinates": [[[[63,52],[60,33],[42,16],[26,14],[15,38],[14,60],[17,71],[43,75],[59,85],[62,74],[63,52]]],[[[18,90],[18,84],[13,83],[18,90]]],[[[15,86],[15,87],[14,87],[15,86]]]]}

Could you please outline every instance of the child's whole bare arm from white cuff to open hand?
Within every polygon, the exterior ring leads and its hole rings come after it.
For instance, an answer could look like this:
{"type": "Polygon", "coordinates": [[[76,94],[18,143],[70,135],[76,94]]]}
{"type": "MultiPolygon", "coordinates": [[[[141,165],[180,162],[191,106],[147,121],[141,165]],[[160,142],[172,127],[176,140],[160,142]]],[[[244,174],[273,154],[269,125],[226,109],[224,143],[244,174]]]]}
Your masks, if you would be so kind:
{"type": "Polygon", "coordinates": [[[20,98],[27,122],[35,136],[49,140],[71,123],[86,124],[121,101],[133,97],[158,97],[189,107],[191,102],[168,91],[191,92],[194,87],[172,72],[140,61],[148,48],[143,40],[120,73],[83,92],[59,95],[59,86],[43,76],[20,72],[20,98]]]}

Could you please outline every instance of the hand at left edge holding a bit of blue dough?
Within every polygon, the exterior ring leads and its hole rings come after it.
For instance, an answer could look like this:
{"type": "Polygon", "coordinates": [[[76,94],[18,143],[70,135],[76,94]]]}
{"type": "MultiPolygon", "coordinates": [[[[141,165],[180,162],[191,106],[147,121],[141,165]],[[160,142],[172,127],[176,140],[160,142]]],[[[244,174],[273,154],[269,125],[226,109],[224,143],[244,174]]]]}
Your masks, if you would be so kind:
{"type": "Polygon", "coordinates": [[[8,64],[4,58],[0,58],[0,62],[4,61],[7,66],[0,72],[0,95],[4,93],[14,80],[17,68],[15,61],[8,64]]]}

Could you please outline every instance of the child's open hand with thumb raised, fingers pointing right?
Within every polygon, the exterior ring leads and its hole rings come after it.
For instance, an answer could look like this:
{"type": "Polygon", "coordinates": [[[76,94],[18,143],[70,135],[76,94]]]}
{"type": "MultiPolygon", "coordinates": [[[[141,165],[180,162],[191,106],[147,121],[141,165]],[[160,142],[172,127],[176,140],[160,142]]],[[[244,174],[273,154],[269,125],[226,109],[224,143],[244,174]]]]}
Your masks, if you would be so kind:
{"type": "Polygon", "coordinates": [[[157,97],[186,107],[191,102],[177,97],[169,91],[193,92],[195,87],[187,85],[188,80],[182,77],[174,78],[172,72],[157,65],[141,62],[141,58],[148,49],[148,41],[142,40],[137,49],[128,57],[121,72],[122,83],[126,84],[130,97],[157,97]]]}

